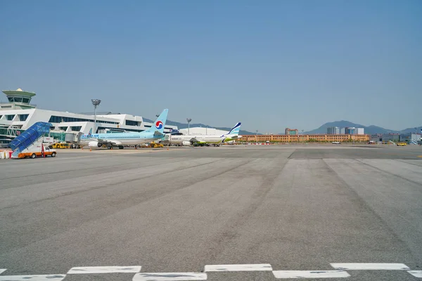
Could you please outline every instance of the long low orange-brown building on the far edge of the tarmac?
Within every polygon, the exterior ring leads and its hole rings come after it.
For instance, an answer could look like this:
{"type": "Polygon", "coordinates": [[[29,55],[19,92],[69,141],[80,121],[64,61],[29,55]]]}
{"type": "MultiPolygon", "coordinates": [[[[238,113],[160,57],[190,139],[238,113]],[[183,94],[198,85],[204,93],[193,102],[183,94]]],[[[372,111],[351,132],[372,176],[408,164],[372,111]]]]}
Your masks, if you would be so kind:
{"type": "Polygon", "coordinates": [[[245,135],[238,141],[250,142],[279,142],[279,143],[303,143],[303,142],[368,142],[369,135],[245,135]]]}

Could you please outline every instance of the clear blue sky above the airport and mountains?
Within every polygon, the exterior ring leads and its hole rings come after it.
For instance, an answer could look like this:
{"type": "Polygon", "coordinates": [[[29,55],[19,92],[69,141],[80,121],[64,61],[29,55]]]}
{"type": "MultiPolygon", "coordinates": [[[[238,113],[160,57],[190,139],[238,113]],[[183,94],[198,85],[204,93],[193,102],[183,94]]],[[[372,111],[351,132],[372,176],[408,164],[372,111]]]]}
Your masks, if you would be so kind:
{"type": "Polygon", "coordinates": [[[0,20],[0,88],[44,109],[422,125],[420,0],[0,1],[0,20]]]}

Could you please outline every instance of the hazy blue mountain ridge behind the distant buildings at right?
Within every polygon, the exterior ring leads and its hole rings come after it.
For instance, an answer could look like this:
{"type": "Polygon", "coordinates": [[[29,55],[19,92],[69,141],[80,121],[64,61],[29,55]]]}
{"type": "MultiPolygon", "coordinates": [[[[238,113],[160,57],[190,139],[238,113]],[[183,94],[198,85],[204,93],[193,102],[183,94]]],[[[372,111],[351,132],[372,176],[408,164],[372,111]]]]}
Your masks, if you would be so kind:
{"type": "MultiPolygon", "coordinates": [[[[402,131],[395,131],[395,130],[390,130],[390,129],[385,129],[383,127],[380,126],[364,126],[362,124],[356,124],[356,123],[352,123],[349,121],[345,121],[345,120],[341,120],[341,121],[335,121],[335,122],[328,122],[322,126],[320,126],[318,129],[314,129],[312,131],[307,131],[305,133],[309,133],[309,134],[313,134],[313,133],[326,133],[327,132],[327,128],[328,127],[340,127],[340,128],[345,128],[345,127],[356,127],[356,128],[364,128],[364,133],[368,134],[368,135],[372,135],[375,133],[414,133],[416,130],[414,128],[409,128],[409,129],[404,129],[402,131]]],[[[421,127],[418,127],[418,133],[421,133],[421,127]]]]}

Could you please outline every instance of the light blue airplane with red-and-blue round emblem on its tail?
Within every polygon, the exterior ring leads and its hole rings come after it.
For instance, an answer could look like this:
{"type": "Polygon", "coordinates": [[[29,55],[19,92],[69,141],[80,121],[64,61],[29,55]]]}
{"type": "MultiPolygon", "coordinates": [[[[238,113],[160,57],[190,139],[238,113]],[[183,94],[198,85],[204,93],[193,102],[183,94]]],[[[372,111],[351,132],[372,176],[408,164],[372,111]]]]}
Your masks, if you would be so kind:
{"type": "Polygon", "coordinates": [[[124,145],[140,145],[142,143],[150,143],[151,141],[159,140],[164,136],[164,126],[167,121],[167,113],[169,110],[165,109],[160,116],[155,120],[153,126],[146,131],[140,133],[90,133],[81,137],[81,145],[89,145],[91,148],[101,148],[107,145],[108,149],[117,146],[120,149],[124,145]]]}

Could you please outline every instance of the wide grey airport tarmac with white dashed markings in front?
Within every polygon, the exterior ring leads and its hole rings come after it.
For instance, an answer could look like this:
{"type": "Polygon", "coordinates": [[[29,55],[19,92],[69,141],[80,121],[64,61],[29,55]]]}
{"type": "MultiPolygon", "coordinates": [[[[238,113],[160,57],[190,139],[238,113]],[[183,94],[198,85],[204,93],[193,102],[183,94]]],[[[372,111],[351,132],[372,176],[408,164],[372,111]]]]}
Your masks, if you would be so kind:
{"type": "Polygon", "coordinates": [[[422,278],[417,145],[58,150],[0,177],[0,281],[422,278]]]}

